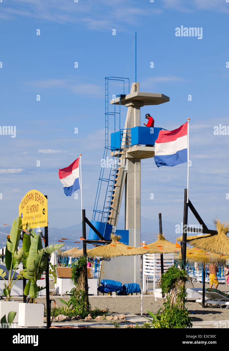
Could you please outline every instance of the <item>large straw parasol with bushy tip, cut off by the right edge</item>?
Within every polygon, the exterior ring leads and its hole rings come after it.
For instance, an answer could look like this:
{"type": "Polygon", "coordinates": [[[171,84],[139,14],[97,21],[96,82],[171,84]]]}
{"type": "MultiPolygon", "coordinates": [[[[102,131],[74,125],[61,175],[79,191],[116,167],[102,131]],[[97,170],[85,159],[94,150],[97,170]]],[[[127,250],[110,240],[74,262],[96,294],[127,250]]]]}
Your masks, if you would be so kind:
{"type": "MultiPolygon", "coordinates": [[[[218,255],[229,254],[229,225],[225,222],[221,223],[217,218],[213,221],[216,226],[217,234],[207,234],[202,236],[187,237],[187,243],[191,246],[197,246],[204,252],[214,253],[218,255]]],[[[182,237],[177,238],[177,241],[182,241],[182,237]]]]}

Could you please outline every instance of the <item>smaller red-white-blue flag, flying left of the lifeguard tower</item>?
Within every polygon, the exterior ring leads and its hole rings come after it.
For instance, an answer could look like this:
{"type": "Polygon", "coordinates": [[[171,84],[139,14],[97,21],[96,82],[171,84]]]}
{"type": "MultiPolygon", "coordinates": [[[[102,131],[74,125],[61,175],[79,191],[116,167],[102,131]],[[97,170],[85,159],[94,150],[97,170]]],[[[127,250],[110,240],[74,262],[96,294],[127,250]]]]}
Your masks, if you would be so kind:
{"type": "Polygon", "coordinates": [[[80,158],[76,159],[70,166],[59,169],[59,178],[66,196],[71,196],[74,191],[80,189],[79,161],[80,158]]]}

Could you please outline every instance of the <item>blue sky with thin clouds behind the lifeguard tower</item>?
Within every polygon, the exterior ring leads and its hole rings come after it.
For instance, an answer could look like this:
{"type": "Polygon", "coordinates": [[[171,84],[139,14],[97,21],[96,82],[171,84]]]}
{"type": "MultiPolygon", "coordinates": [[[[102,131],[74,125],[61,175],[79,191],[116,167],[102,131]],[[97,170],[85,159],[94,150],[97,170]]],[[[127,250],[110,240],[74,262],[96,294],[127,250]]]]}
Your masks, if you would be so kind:
{"type": "MultiPolygon", "coordinates": [[[[58,168],[80,153],[91,219],[105,141],[104,78],[127,72],[134,82],[134,53],[127,66],[135,32],[140,91],[170,97],[143,107],[141,124],[146,113],[168,130],[190,118],[189,198],[207,223],[228,220],[229,135],[213,134],[229,125],[228,16],[223,0],[2,0],[0,125],[16,126],[16,137],[0,135],[0,221],[11,224],[24,194],[38,189],[48,195],[50,226],[80,223],[80,196],[66,197],[58,178],[58,168]],[[203,38],[176,37],[181,26],[202,27],[203,38]]],[[[158,170],[153,159],[142,160],[141,215],[157,221],[161,212],[180,223],[186,182],[185,164],[158,170]]],[[[195,223],[191,215],[188,221],[195,223]]]]}

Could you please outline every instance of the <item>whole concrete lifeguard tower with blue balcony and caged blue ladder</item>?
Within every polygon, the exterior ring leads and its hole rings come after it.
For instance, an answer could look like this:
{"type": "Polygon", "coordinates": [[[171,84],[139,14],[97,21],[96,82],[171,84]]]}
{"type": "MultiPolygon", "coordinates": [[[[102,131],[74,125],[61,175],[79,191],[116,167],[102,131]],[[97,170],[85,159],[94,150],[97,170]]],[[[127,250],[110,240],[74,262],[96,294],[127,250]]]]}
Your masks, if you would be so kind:
{"type": "MultiPolygon", "coordinates": [[[[137,247],[141,243],[141,159],[154,157],[155,140],[162,129],[141,127],[140,109],[146,105],[160,105],[168,102],[169,97],[159,93],[140,92],[139,83],[133,83],[129,94],[123,93],[116,95],[112,100],[108,100],[109,79],[114,80],[114,77],[106,78],[106,146],[104,159],[106,158],[107,149],[109,157],[114,162],[109,176],[104,176],[105,173],[101,167],[92,223],[101,234],[104,234],[106,239],[109,239],[110,233],[115,232],[121,235],[123,243],[137,247]],[[113,105],[114,110],[112,112],[109,110],[108,104],[113,105]],[[116,105],[118,105],[118,108],[115,107],[116,105]],[[110,133],[109,138],[108,121],[111,118],[115,120],[117,116],[120,116],[122,105],[128,107],[124,128],[120,129],[119,125],[118,131],[110,133]],[[112,172],[114,173],[112,174],[112,172]],[[107,188],[106,199],[103,210],[98,210],[102,182],[105,181],[107,182],[105,187],[107,188]],[[125,194],[125,210],[123,213],[125,228],[124,230],[116,230],[123,191],[125,194]]],[[[124,78],[117,78],[117,80],[121,79],[124,78]]],[[[89,239],[97,237],[93,233],[92,231],[89,232],[89,239]]],[[[99,238],[97,237],[97,239],[99,238]]],[[[100,265],[101,279],[119,280],[122,284],[140,284],[140,256],[103,259],[102,265],[100,265]]]]}

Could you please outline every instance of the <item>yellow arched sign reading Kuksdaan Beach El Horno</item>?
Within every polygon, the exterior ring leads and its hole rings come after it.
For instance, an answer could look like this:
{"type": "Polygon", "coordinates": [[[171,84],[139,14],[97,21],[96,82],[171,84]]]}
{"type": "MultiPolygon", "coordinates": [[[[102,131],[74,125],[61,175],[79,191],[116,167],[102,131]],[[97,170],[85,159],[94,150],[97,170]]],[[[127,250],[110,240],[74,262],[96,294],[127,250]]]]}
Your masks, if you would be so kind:
{"type": "Polygon", "coordinates": [[[19,216],[23,229],[26,224],[31,228],[48,226],[48,201],[38,190],[30,190],[19,205],[19,216]]]}

